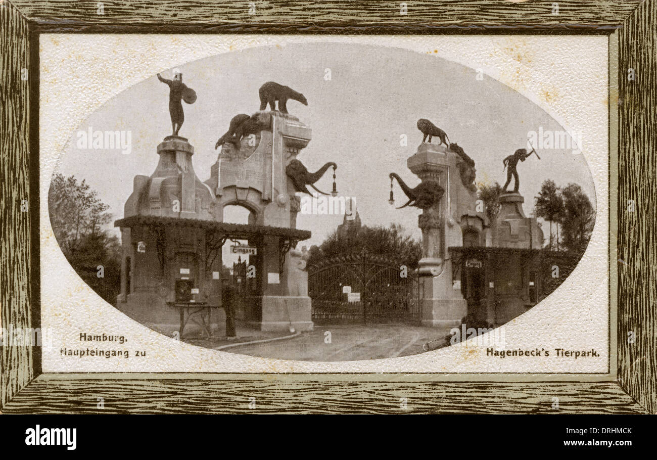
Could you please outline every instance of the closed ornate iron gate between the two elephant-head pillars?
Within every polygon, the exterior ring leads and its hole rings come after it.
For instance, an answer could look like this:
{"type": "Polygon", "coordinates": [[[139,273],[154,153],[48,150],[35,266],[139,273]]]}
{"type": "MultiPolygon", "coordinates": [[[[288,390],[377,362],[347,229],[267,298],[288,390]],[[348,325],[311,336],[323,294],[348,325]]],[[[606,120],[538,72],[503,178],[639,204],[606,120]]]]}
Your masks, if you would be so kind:
{"type": "Polygon", "coordinates": [[[371,254],[334,256],[308,268],[316,323],[420,324],[417,276],[401,263],[371,254]]]}

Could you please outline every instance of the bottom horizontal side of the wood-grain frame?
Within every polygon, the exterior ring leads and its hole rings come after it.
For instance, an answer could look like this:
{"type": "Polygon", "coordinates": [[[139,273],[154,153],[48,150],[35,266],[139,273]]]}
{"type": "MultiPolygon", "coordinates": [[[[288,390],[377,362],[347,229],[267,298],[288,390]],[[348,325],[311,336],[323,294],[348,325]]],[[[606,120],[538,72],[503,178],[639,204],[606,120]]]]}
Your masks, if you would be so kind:
{"type": "Polygon", "coordinates": [[[62,380],[41,375],[5,413],[645,413],[614,382],[62,380]],[[553,409],[553,398],[558,409],[553,409]],[[97,407],[102,398],[103,409],[97,407]],[[256,408],[250,409],[249,398],[256,408]],[[401,409],[406,398],[407,409],[401,409]]]}

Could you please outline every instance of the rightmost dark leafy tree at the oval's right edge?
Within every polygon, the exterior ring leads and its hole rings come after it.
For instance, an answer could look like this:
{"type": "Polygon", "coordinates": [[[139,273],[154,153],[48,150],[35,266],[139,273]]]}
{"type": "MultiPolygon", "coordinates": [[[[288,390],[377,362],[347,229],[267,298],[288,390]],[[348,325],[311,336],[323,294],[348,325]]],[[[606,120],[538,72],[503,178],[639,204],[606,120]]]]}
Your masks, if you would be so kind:
{"type": "Polygon", "coordinates": [[[561,191],[564,202],[562,240],[568,251],[583,254],[595,225],[595,210],[591,200],[576,183],[570,183],[561,191]]]}

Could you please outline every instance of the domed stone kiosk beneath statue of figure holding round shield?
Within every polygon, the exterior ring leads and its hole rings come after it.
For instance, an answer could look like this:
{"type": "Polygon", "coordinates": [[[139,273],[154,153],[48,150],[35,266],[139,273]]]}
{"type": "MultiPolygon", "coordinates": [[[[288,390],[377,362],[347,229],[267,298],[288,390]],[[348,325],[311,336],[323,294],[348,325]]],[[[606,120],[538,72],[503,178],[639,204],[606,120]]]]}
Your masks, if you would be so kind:
{"type": "MultiPolygon", "coordinates": [[[[221,260],[208,257],[214,196],[192,164],[194,147],[184,137],[167,136],[157,146],[155,171],[137,175],[124,206],[121,229],[122,283],[117,308],[138,321],[175,326],[181,296],[220,304],[221,260]]],[[[223,311],[215,322],[223,327],[223,311]]]]}

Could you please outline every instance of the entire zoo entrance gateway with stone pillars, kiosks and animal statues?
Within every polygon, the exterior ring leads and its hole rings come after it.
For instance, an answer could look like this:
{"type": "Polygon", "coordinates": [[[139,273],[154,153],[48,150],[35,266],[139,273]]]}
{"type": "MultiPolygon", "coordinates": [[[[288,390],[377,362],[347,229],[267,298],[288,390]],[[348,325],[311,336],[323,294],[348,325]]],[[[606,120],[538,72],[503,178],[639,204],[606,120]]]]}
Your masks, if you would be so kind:
{"type": "MultiPolygon", "coordinates": [[[[314,183],[333,168],[331,195],[337,194],[334,162],[310,173],[297,158],[311,140],[311,129],[287,113],[285,102],[289,98],[307,104],[305,97],[265,83],[260,111],[233,117],[215,145],[221,152],[210,178],[200,181],[193,168],[194,147],[178,135],[184,120],[179,104],[193,103],[196,94],[180,86],[181,76],[160,80],[171,88],[173,134],[157,146],[160,159],[154,172],[134,177],[124,218],[115,222],[122,233],[118,309],[154,324],[175,323],[180,315],[182,333],[184,313],[176,308],[208,308],[209,314],[210,307],[222,305],[222,284],[229,280],[221,279],[221,247],[228,239],[242,239],[254,248],[248,258],[256,267],[256,277],[242,292],[243,319],[261,331],[311,330],[313,310],[317,311],[311,304],[334,308],[330,302],[337,296],[344,299],[344,292],[331,292],[332,284],[311,284],[311,300],[302,252],[295,249],[311,236],[296,229],[296,193],[309,193],[307,186],[317,190],[314,183]],[[267,104],[272,110],[265,110],[267,104]],[[223,208],[229,205],[249,210],[249,223],[223,223],[223,208]]],[[[399,175],[390,174],[409,198],[405,206],[422,210],[417,289],[400,291],[413,304],[407,307],[413,312],[407,319],[429,327],[454,327],[469,313],[487,324],[506,323],[551,292],[545,265],[568,256],[541,250],[543,232],[535,218],[524,215],[515,170],[516,189],[500,196],[501,211],[491,222],[486,212],[476,209],[474,160],[458,145],[447,144],[444,131],[428,120],[420,122],[428,142],[423,139],[407,161],[420,184],[411,188],[399,175]],[[440,137],[439,144],[431,143],[432,135],[440,137]]],[[[524,161],[527,156],[525,152],[519,158],[524,161]]],[[[385,277],[374,284],[383,282],[390,287],[385,277]]],[[[378,297],[362,292],[359,300],[384,313],[385,319],[382,287],[373,289],[378,297]]],[[[225,313],[218,310],[215,320],[221,327],[227,321],[225,313]]]]}

